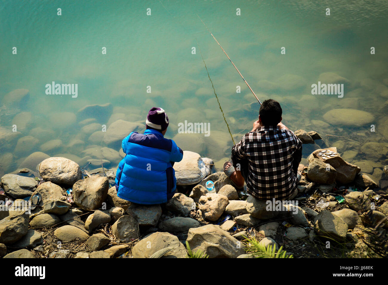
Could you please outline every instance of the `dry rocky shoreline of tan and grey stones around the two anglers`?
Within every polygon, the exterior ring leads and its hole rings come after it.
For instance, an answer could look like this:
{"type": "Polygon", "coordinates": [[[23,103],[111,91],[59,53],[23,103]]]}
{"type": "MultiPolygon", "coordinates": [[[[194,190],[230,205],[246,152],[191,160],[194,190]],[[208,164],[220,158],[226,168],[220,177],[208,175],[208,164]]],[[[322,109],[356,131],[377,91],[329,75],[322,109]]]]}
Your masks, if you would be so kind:
{"type": "MultiPolygon", "coordinates": [[[[296,134],[303,143],[319,139],[315,132],[296,134]]],[[[307,162],[299,165],[296,204],[268,210],[266,201],[238,192],[223,172],[215,172],[213,160],[191,151],[174,165],[183,193],[152,206],[118,198],[116,169],[89,173],[68,158],[44,158],[37,172],[24,168],[1,177],[0,256],[183,258],[187,242],[193,252],[212,258],[242,258],[250,257],[245,237],[282,246],[295,257],[384,251],[384,246],[371,251],[369,245],[388,228],[387,191],[335,147],[313,151],[307,162]],[[209,180],[217,193],[204,187],[209,180]],[[42,200],[26,214],[26,200],[38,194],[42,200]]]]}

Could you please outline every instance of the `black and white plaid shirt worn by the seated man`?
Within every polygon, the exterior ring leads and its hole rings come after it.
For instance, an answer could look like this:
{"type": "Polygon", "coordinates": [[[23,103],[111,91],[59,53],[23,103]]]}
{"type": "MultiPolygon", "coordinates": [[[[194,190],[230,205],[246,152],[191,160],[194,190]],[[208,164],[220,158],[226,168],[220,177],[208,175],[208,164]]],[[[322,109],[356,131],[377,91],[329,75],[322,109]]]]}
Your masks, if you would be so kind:
{"type": "Polygon", "coordinates": [[[291,130],[260,127],[245,134],[233,146],[232,155],[248,160],[246,184],[250,195],[259,200],[282,200],[298,187],[301,151],[302,142],[291,130]]]}

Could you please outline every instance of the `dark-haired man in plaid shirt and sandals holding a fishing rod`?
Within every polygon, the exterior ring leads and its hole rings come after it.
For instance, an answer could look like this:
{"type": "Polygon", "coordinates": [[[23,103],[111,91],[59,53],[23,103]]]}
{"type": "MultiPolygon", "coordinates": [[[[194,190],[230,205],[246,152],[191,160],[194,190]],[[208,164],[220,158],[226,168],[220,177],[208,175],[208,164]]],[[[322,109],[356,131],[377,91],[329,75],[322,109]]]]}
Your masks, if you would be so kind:
{"type": "Polygon", "coordinates": [[[247,184],[247,191],[258,200],[293,199],[298,193],[298,165],[302,142],[281,123],[279,102],[269,99],[260,106],[259,120],[253,129],[232,148],[232,163],[224,171],[237,188],[247,184]]]}

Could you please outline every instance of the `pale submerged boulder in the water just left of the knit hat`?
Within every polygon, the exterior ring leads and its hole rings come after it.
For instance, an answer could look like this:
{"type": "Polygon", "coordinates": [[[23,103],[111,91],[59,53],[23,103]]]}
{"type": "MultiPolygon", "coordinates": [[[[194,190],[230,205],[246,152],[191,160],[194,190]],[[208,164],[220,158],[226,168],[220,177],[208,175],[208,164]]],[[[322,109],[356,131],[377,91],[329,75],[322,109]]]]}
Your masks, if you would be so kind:
{"type": "Polygon", "coordinates": [[[144,124],[117,120],[109,125],[102,142],[110,148],[117,149],[121,146],[123,137],[128,136],[130,132],[140,132],[144,129],[144,124]]]}

